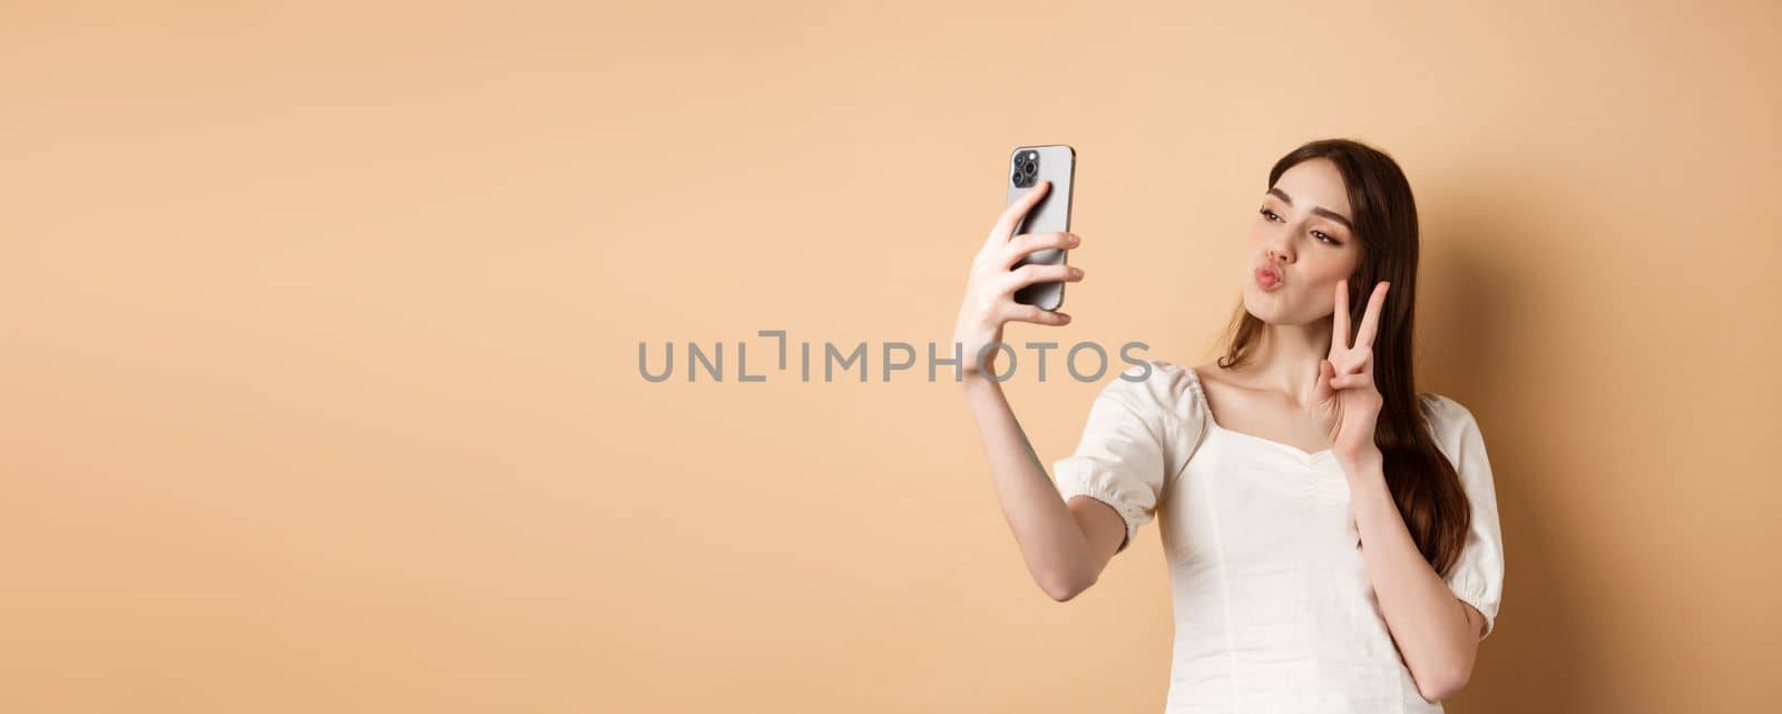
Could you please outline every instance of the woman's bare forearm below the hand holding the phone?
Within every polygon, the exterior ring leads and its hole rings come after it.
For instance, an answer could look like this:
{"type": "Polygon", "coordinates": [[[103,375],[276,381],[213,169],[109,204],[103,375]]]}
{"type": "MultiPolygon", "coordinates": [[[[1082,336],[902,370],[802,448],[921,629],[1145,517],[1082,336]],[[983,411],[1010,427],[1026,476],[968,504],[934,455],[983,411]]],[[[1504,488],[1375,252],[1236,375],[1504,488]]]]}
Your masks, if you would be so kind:
{"type": "Polygon", "coordinates": [[[964,394],[989,458],[996,500],[1034,580],[1055,598],[1087,588],[1092,580],[1089,545],[1009,408],[1001,385],[968,376],[964,394]]]}

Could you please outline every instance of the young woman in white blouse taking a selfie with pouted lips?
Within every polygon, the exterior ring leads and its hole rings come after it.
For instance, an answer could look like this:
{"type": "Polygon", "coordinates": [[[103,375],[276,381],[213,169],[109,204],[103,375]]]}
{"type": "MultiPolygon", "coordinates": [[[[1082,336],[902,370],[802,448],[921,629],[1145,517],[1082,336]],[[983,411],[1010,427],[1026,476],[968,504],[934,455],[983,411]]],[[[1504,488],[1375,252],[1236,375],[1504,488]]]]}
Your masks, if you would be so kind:
{"type": "Polygon", "coordinates": [[[1010,235],[1044,191],[991,230],[955,328],[1035,582],[1071,600],[1155,516],[1176,604],[1171,714],[1440,712],[1497,620],[1504,548],[1479,424],[1411,381],[1418,237],[1399,166],[1340,139],[1276,162],[1224,356],[1110,381],[1057,483],[991,377],[996,351],[969,360],[1009,320],[1069,322],[1010,299],[1083,276],[1010,271],[1080,246],[1010,235]]]}

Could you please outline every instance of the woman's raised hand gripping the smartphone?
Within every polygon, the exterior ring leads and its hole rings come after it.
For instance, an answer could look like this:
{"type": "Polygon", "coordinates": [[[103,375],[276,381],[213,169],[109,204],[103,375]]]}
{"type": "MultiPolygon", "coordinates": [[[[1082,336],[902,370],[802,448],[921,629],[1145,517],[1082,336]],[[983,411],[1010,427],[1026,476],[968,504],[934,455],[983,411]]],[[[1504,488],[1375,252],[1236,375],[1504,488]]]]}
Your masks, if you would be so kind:
{"type": "Polygon", "coordinates": [[[953,326],[953,342],[960,345],[960,369],[966,376],[984,372],[996,374],[996,356],[993,349],[978,361],[978,353],[994,342],[1001,342],[1003,322],[1037,322],[1060,326],[1071,322],[1071,315],[1046,312],[1034,304],[1019,304],[1014,292],[1050,281],[1076,283],[1083,280],[1083,271],[1073,265],[1037,265],[1014,267],[1023,256],[1050,247],[1071,249],[1082,240],[1075,233],[1021,233],[1012,235],[1026,212],[1051,191],[1051,182],[1039,182],[1032,191],[1003,210],[984,240],[984,247],[971,260],[971,276],[966,281],[966,299],[959,306],[959,322],[953,326]]]}

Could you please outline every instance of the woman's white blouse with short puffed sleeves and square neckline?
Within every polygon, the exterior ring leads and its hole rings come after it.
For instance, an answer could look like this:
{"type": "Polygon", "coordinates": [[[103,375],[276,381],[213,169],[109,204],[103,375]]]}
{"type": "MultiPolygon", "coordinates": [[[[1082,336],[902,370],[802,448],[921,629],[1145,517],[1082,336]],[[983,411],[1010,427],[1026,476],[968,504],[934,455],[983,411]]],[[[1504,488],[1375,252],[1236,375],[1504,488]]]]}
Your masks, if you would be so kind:
{"type": "MultiPolygon", "coordinates": [[[[1230,431],[1192,367],[1149,370],[1103,386],[1076,452],[1053,468],[1066,500],[1119,511],[1117,552],[1158,520],[1176,621],[1165,714],[1440,712],[1386,630],[1335,452],[1230,431]]],[[[1418,404],[1472,502],[1445,580],[1484,614],[1484,639],[1504,591],[1492,465],[1467,408],[1438,394],[1418,404]]]]}

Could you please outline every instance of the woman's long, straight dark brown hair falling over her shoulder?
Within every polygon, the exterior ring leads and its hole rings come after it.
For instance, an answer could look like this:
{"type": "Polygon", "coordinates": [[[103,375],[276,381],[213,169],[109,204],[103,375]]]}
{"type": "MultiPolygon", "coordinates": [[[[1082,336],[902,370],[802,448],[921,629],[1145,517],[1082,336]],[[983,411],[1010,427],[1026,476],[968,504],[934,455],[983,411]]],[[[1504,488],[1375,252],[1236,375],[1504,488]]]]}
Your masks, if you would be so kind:
{"type": "MultiPolygon", "coordinates": [[[[1470,506],[1454,465],[1435,445],[1418,410],[1411,370],[1411,319],[1417,313],[1417,203],[1404,171],[1386,153],[1349,139],[1322,139],[1296,148],[1269,169],[1269,187],[1294,164],[1328,158],[1342,173],[1361,240],[1361,265],[1349,276],[1349,324],[1360,326],[1367,297],[1379,281],[1392,283],[1374,333],[1374,385],[1385,404],[1374,443],[1385,456],[1386,486],[1417,541],[1417,550],[1447,577],[1467,545],[1470,506]]],[[[1249,361],[1263,322],[1238,299],[1221,369],[1249,361]]]]}

